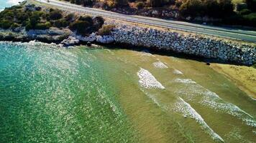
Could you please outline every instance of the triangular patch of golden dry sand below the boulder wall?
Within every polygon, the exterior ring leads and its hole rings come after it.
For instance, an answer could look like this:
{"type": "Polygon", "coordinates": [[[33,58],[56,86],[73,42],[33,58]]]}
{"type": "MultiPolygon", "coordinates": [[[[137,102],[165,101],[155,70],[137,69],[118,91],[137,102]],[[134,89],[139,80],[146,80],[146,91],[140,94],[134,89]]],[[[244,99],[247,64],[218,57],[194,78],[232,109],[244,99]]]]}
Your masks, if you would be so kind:
{"type": "Polygon", "coordinates": [[[230,64],[211,64],[211,68],[231,79],[253,99],[256,99],[256,69],[230,64]]]}

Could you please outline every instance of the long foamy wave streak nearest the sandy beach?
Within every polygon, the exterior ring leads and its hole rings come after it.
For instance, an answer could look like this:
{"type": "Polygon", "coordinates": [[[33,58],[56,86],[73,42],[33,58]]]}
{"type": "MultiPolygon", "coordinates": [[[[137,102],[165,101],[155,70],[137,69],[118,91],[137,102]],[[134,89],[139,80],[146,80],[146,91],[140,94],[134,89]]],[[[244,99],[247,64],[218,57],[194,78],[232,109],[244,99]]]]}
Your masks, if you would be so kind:
{"type": "Polygon", "coordinates": [[[196,84],[191,79],[175,79],[175,82],[180,82],[186,84],[187,86],[180,88],[178,90],[178,94],[180,96],[186,97],[189,100],[196,100],[199,98],[199,103],[203,104],[206,107],[210,107],[218,112],[225,112],[227,114],[231,114],[238,119],[241,119],[245,124],[256,127],[256,120],[247,112],[237,107],[235,104],[225,102],[221,99],[218,94],[209,91],[202,87],[200,84],[196,84]]]}

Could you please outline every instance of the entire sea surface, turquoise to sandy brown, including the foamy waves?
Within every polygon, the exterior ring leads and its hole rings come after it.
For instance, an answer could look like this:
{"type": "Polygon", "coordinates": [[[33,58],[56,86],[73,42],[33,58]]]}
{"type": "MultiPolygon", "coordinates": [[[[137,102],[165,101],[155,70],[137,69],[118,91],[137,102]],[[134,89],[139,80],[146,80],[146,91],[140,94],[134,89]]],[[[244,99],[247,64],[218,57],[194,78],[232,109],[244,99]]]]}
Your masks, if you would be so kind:
{"type": "Polygon", "coordinates": [[[255,117],[199,61],[0,43],[0,142],[255,142],[255,117]]]}

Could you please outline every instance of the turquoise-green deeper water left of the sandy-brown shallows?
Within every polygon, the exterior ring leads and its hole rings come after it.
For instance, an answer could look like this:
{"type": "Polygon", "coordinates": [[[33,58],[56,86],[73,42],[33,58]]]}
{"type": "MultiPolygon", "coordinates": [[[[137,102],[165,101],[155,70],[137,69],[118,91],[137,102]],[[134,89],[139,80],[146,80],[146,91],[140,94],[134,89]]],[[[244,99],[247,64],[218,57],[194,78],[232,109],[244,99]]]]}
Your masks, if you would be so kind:
{"type": "Polygon", "coordinates": [[[0,142],[133,142],[94,51],[0,44],[0,142]]]}

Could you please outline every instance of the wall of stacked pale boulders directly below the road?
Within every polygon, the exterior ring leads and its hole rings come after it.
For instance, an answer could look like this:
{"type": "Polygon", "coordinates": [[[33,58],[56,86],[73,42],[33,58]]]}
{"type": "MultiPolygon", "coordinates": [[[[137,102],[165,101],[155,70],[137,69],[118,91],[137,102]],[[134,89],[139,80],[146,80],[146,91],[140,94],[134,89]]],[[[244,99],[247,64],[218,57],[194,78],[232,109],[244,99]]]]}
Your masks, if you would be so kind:
{"type": "MultiPolygon", "coordinates": [[[[111,24],[114,23],[111,22],[111,24]]],[[[147,46],[246,65],[256,62],[256,46],[239,44],[235,41],[223,41],[198,34],[186,35],[140,26],[115,25],[116,28],[111,32],[111,36],[117,43],[147,46]]]]}

